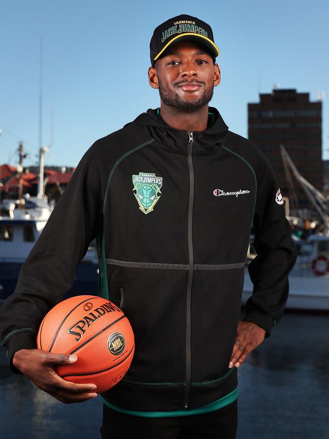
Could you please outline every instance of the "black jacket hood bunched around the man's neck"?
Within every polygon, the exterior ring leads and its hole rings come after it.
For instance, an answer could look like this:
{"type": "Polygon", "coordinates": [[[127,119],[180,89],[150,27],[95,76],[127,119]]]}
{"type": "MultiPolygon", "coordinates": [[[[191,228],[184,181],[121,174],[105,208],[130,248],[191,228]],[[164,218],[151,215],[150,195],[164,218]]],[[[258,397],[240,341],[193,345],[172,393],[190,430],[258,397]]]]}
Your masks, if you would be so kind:
{"type": "MultiPolygon", "coordinates": [[[[160,116],[160,109],[148,109],[127,125],[143,125],[149,135],[162,147],[187,154],[188,132],[167,125],[160,116]]],[[[126,126],[127,126],[126,125],[126,126]]],[[[193,154],[207,154],[219,149],[228,135],[228,126],[219,111],[209,107],[208,128],[194,131],[193,154]]]]}

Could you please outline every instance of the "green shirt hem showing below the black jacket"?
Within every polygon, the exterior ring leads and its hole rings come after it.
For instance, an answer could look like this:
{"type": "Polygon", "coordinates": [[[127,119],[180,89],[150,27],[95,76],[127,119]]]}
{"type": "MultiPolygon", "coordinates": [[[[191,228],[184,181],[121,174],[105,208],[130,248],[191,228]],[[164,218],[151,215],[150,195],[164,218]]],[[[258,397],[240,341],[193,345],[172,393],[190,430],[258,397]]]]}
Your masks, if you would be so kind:
{"type": "Polygon", "coordinates": [[[113,406],[113,404],[106,401],[103,397],[103,403],[110,409],[116,412],[125,413],[126,415],[132,416],[142,416],[144,418],[173,418],[177,416],[191,416],[191,415],[202,415],[203,413],[214,412],[215,410],[222,409],[228,404],[233,403],[237,398],[237,387],[231,393],[223,396],[213,403],[206,404],[202,407],[197,407],[196,409],[186,409],[186,410],[174,410],[169,412],[140,412],[133,410],[121,409],[120,407],[113,406]]]}

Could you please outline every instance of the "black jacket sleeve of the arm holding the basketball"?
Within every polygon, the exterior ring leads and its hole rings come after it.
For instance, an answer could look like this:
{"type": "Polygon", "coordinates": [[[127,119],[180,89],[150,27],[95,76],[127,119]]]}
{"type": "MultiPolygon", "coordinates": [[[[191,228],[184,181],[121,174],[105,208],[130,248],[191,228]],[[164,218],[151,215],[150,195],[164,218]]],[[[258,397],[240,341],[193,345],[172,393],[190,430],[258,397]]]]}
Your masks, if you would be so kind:
{"type": "Polygon", "coordinates": [[[86,152],[46,226],[22,265],[16,289],[0,307],[0,340],[10,368],[19,349],[36,348],[36,335],[47,312],[63,300],[75,268],[102,227],[103,187],[95,153],[86,152]]]}

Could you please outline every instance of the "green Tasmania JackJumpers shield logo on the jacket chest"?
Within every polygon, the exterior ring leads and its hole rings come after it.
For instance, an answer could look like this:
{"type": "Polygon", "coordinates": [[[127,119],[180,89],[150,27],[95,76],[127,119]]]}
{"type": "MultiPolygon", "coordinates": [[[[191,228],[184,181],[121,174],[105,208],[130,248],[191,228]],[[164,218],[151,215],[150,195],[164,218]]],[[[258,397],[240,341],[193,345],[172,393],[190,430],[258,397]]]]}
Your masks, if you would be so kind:
{"type": "Polygon", "coordinates": [[[162,186],[162,177],[156,177],[155,174],[140,172],[139,175],[133,175],[134,195],[138,201],[139,209],[147,214],[153,211],[155,203],[160,198],[160,188],[162,186]]]}

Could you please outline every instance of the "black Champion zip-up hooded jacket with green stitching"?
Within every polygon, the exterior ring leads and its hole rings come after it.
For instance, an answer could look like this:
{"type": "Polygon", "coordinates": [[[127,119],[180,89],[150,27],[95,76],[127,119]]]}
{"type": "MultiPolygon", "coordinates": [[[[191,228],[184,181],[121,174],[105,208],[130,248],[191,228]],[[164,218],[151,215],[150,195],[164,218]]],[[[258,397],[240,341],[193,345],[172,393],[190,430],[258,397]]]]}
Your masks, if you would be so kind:
{"type": "Polygon", "coordinates": [[[215,108],[208,125],[181,131],[148,110],[85,153],[0,308],[14,372],[13,354],[36,347],[40,322],[97,237],[99,294],[121,305],[135,333],[132,365],[105,401],[175,411],[236,389],[228,365],[250,234],[258,256],[244,320],[266,337],[283,313],[297,251],[268,159],[215,108]]]}

